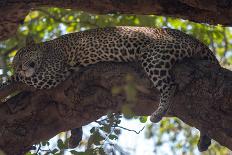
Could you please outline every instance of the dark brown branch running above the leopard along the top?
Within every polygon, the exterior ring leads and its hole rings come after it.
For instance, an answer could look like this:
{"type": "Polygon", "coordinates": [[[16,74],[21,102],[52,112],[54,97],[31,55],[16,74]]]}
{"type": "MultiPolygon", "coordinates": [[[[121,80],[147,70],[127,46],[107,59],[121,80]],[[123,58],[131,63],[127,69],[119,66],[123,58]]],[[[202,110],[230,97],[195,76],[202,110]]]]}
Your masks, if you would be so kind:
{"type": "Polygon", "coordinates": [[[232,26],[231,0],[1,0],[0,40],[14,35],[30,10],[41,6],[98,14],[153,14],[232,26]]]}

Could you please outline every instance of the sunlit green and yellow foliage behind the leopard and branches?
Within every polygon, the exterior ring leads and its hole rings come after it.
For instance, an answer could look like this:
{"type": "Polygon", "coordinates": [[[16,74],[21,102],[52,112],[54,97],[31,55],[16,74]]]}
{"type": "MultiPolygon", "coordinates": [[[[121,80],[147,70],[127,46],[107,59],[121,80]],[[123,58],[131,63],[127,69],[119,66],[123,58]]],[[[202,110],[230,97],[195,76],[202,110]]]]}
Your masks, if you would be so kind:
{"type": "MultiPolygon", "coordinates": [[[[196,24],[185,20],[142,15],[95,15],[81,11],[64,10],[59,8],[40,8],[32,11],[25,19],[16,36],[0,43],[0,71],[1,80],[12,74],[10,67],[12,57],[25,44],[27,35],[33,36],[37,42],[50,40],[62,34],[83,31],[90,28],[131,25],[131,26],[149,26],[149,27],[170,27],[179,29],[207,44],[217,55],[222,64],[232,63],[232,30],[220,25],[210,26],[206,24],[196,24]]],[[[125,87],[113,88],[112,93],[117,94],[122,91],[127,94],[128,107],[124,107],[124,114],[127,118],[132,118],[130,107],[133,101],[136,101],[136,91],[133,84],[133,77],[127,77],[125,87]]],[[[141,123],[147,122],[147,117],[134,117],[141,123]]],[[[90,134],[81,143],[80,148],[69,149],[71,154],[125,154],[116,143],[122,130],[127,130],[120,126],[121,115],[109,114],[101,120],[96,121],[97,125],[92,127],[90,134]],[[114,141],[114,143],[112,143],[114,141]],[[82,150],[82,151],[80,151],[82,150]],[[110,151],[111,152],[110,152],[110,151]]],[[[165,119],[158,125],[146,123],[146,138],[154,139],[155,151],[168,143],[173,154],[178,152],[182,154],[195,154],[198,134],[195,129],[187,126],[180,120],[165,119]]],[[[68,133],[58,135],[56,145],[49,142],[41,142],[36,145],[37,150],[29,152],[27,155],[34,154],[55,154],[60,155],[68,148],[68,133]]],[[[151,146],[152,147],[152,146],[151,146]]],[[[203,154],[227,154],[228,150],[214,143],[210,151],[203,154]]]]}

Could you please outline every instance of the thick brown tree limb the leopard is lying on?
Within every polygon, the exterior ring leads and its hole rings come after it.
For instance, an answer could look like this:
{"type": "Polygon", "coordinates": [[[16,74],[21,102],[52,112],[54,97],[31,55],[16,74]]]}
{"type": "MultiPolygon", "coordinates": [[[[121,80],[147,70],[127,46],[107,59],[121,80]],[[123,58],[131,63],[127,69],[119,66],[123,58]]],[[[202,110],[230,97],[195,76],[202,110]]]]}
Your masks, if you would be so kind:
{"type": "MultiPolygon", "coordinates": [[[[24,92],[0,105],[0,149],[22,153],[32,144],[86,125],[109,110],[119,112],[127,102],[125,93],[112,95],[111,89],[124,86],[127,74],[134,76],[138,88],[133,111],[151,114],[159,93],[138,65],[99,63],[53,90],[24,92]]],[[[179,90],[169,116],[232,149],[232,72],[205,61],[188,61],[177,65],[173,75],[179,90]]]]}

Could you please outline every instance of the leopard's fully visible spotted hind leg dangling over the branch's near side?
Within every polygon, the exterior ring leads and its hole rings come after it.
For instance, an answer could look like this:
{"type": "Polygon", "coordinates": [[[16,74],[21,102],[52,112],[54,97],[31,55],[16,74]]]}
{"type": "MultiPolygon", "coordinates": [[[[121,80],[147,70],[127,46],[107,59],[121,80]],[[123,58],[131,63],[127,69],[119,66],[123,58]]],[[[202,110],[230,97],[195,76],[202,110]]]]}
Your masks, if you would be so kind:
{"type": "Polygon", "coordinates": [[[173,63],[171,63],[171,57],[168,55],[169,53],[166,51],[147,48],[141,51],[138,58],[154,87],[161,93],[159,106],[150,117],[153,123],[159,122],[166,114],[176,90],[176,85],[170,76],[173,63]]]}

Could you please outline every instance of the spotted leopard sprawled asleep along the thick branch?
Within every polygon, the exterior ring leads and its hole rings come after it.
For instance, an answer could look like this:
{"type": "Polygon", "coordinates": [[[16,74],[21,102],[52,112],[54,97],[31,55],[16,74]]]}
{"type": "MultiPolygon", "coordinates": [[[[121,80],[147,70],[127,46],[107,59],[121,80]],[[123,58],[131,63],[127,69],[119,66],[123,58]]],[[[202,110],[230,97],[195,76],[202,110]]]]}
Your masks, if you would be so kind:
{"type": "Polygon", "coordinates": [[[84,30],[56,39],[27,41],[13,59],[9,82],[23,82],[36,89],[51,89],[71,73],[98,62],[136,62],[160,93],[151,122],[159,122],[169,110],[177,84],[173,66],[185,58],[219,65],[214,53],[201,41],[171,28],[116,26],[84,30]]]}

